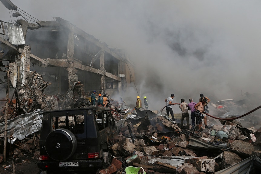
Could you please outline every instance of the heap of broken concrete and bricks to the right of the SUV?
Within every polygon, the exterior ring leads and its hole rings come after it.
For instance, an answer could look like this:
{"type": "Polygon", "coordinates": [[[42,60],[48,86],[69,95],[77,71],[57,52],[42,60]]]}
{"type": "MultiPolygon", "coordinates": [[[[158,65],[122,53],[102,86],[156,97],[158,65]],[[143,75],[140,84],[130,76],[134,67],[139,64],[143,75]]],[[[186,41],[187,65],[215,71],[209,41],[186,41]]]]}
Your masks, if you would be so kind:
{"type": "Polygon", "coordinates": [[[126,166],[141,167],[146,173],[214,173],[251,156],[261,156],[261,132],[254,127],[244,128],[237,121],[220,120],[223,126],[208,121],[211,128],[200,133],[197,127],[181,129],[165,115],[136,111],[136,115],[129,114],[117,123],[120,133],[112,149],[122,163],[121,168],[116,167],[118,173],[126,166]]]}

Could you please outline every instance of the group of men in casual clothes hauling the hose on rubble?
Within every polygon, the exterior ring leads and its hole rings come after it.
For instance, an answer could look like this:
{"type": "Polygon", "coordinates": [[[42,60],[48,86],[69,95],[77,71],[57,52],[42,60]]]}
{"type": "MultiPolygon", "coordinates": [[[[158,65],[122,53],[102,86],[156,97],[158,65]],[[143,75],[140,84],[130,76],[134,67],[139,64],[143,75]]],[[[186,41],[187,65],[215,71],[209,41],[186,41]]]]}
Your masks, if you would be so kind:
{"type": "Polygon", "coordinates": [[[196,124],[199,126],[199,131],[201,132],[202,120],[204,120],[205,128],[209,128],[206,123],[206,115],[204,113],[209,113],[209,108],[207,104],[210,102],[208,97],[205,97],[203,94],[200,94],[200,99],[198,103],[193,102],[193,98],[190,98],[190,103],[185,103],[185,99],[181,99],[181,103],[172,103],[174,98],[174,94],[171,94],[170,97],[165,99],[166,102],[166,111],[167,115],[171,114],[173,123],[176,123],[173,110],[171,105],[179,104],[179,107],[182,111],[180,125],[183,126],[183,120],[186,118],[187,121],[187,129],[189,130],[189,110],[191,111],[191,124],[193,128],[195,128],[195,120],[196,124]]]}

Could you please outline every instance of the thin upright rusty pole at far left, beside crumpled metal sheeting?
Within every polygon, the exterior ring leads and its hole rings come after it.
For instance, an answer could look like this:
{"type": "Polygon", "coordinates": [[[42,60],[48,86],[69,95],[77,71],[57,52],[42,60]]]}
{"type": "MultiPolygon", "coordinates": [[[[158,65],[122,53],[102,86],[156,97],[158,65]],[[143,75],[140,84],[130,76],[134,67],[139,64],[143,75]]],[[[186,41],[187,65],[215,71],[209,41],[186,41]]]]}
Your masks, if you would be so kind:
{"type": "Polygon", "coordinates": [[[6,162],[6,144],[7,144],[7,119],[8,119],[8,99],[9,99],[9,71],[7,74],[7,85],[6,85],[6,103],[5,103],[5,140],[4,140],[4,162],[6,162]]]}

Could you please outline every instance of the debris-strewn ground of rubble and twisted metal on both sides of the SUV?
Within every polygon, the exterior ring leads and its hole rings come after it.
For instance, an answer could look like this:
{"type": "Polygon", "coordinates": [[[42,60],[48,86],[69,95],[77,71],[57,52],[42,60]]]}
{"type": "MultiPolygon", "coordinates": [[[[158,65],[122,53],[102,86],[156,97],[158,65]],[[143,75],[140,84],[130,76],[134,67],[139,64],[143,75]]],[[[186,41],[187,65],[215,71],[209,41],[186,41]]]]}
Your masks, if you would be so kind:
{"type": "MultiPolygon", "coordinates": [[[[82,91],[80,82],[75,82],[67,94],[45,96],[43,90],[48,83],[35,72],[28,73],[28,78],[31,79],[29,80],[31,83],[28,82],[23,88],[15,90],[13,95],[15,99],[10,98],[9,101],[8,155],[5,162],[4,156],[2,154],[0,156],[2,174],[44,173],[37,168],[40,110],[90,106],[88,98],[79,92],[82,91]]],[[[208,116],[207,124],[210,128],[205,129],[203,125],[203,131],[200,132],[197,125],[196,127],[190,125],[190,130],[186,130],[187,123],[180,125],[181,114],[175,114],[176,124],[167,117],[164,110],[159,113],[151,110],[134,110],[126,106],[124,100],[110,99],[109,107],[114,114],[118,129],[118,136],[114,138],[114,145],[111,147],[114,159],[110,167],[99,169],[96,173],[128,174],[144,171],[147,174],[203,174],[222,173],[230,166],[230,171],[240,170],[241,166],[244,166],[244,169],[249,169],[251,173],[258,173],[261,165],[259,160],[261,132],[255,127],[258,123],[252,121],[257,120],[257,116],[249,113],[247,117],[233,120],[232,118],[238,115],[231,110],[233,108],[239,110],[233,100],[223,100],[212,106],[211,113],[222,120],[208,116]],[[247,128],[242,126],[242,123],[246,122],[253,126],[247,128]],[[235,165],[239,167],[233,168],[235,165]]],[[[248,109],[247,106],[244,107],[248,109]]],[[[2,110],[1,153],[4,144],[4,116],[5,110],[2,110]]]]}

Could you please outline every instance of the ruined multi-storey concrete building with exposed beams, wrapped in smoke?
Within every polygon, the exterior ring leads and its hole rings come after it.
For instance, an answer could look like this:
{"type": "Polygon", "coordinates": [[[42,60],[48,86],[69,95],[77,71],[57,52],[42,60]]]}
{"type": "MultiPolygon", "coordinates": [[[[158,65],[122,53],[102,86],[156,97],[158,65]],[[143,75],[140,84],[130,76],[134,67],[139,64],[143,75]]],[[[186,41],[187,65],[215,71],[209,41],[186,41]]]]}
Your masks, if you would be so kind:
{"type": "MultiPolygon", "coordinates": [[[[8,9],[17,10],[12,2],[1,2],[8,9]]],[[[36,23],[24,19],[16,24],[0,21],[0,65],[1,69],[8,66],[5,70],[10,70],[13,87],[23,86],[27,72],[36,71],[51,83],[45,90],[47,95],[65,94],[77,81],[84,90],[78,97],[88,97],[93,90],[109,95],[128,91],[135,76],[133,64],[123,50],[108,48],[62,18],[31,19],[36,23]]],[[[4,76],[0,77],[1,82],[6,81],[4,76]]]]}

